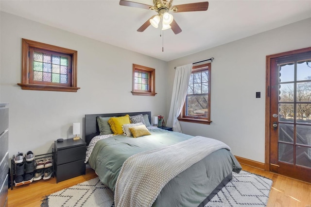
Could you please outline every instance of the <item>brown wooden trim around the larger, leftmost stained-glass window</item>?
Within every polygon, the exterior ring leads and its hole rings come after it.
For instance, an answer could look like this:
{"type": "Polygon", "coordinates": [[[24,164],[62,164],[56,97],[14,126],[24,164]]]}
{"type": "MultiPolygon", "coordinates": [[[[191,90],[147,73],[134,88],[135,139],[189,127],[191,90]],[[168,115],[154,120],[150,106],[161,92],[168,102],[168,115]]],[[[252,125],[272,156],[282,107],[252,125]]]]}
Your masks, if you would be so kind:
{"type": "Polygon", "coordinates": [[[36,42],[29,39],[22,38],[22,66],[21,66],[21,83],[18,83],[18,86],[21,86],[24,90],[47,90],[47,91],[66,91],[66,92],[77,92],[80,87],[77,87],[77,57],[78,52],[66,48],[61,48],[41,42],[36,42]],[[30,61],[29,60],[29,50],[30,48],[63,53],[71,56],[71,79],[69,79],[69,85],[64,86],[62,84],[51,85],[47,84],[33,84],[29,81],[30,73],[30,61]]]}

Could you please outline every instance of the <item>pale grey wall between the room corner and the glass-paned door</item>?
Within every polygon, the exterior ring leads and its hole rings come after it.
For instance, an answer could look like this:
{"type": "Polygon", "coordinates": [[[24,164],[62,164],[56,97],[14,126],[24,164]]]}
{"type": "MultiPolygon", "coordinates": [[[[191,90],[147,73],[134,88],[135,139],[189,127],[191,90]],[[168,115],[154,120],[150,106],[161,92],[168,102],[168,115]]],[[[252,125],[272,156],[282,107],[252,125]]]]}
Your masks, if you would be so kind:
{"type": "MultiPolygon", "coordinates": [[[[234,155],[264,163],[266,55],[311,47],[311,18],[169,62],[168,90],[174,67],[209,59],[210,125],[181,122],[183,133],[216,138],[234,155]],[[261,98],[256,99],[256,92],[261,98]]],[[[169,110],[171,94],[167,95],[169,110]]]]}

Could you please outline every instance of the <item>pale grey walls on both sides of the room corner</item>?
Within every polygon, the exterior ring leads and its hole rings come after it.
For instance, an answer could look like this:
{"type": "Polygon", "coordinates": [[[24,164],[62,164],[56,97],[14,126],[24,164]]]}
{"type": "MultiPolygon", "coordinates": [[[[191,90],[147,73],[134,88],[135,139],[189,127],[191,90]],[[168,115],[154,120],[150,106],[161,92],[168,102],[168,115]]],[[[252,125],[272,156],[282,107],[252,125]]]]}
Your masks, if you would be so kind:
{"type": "Polygon", "coordinates": [[[0,100],[10,103],[9,153],[51,152],[72,138],[72,122],[93,113],[152,111],[167,118],[175,66],[214,57],[210,125],[181,122],[184,133],[216,138],[234,155],[264,162],[265,57],[311,47],[311,19],[247,37],[169,63],[1,12],[0,100]],[[21,38],[78,51],[77,93],[21,90],[21,38]],[[155,97],[133,96],[132,64],[155,68],[155,97]],[[167,80],[167,81],[165,81],[167,80]],[[255,92],[261,98],[255,98],[255,92]]]}

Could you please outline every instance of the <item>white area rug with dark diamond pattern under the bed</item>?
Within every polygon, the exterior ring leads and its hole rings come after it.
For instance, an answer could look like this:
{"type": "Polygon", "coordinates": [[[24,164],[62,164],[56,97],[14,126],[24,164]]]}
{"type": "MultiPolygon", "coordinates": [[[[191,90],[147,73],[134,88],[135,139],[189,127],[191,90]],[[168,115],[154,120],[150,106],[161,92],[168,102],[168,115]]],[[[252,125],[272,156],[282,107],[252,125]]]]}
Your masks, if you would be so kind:
{"type": "MultiPolygon", "coordinates": [[[[266,207],[272,180],[241,171],[205,207],[266,207]]],[[[94,178],[55,192],[41,207],[114,207],[113,192],[94,178]]]]}

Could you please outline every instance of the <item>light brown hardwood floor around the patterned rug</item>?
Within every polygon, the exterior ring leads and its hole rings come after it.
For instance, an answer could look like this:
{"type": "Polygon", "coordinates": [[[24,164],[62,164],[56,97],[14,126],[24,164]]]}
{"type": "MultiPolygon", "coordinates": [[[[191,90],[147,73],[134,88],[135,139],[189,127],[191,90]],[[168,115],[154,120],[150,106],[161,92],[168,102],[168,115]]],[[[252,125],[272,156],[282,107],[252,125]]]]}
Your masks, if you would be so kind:
{"type": "MultiPolygon", "coordinates": [[[[273,180],[267,207],[311,207],[311,183],[275,173],[265,172],[242,165],[244,171],[259,174],[273,180]]],[[[40,207],[44,196],[53,192],[74,186],[97,175],[87,169],[86,175],[81,175],[56,184],[55,178],[34,181],[31,184],[9,189],[9,207],[40,207]]]]}

